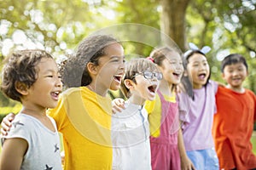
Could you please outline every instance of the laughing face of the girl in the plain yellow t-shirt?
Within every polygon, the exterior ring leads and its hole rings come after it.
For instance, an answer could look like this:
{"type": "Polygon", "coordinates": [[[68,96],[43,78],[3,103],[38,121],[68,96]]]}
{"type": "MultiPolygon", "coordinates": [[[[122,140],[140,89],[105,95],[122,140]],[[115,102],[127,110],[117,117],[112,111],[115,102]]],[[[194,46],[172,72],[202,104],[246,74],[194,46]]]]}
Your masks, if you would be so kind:
{"type": "Polygon", "coordinates": [[[108,89],[117,90],[125,74],[124,48],[117,42],[105,48],[105,55],[96,65],[95,88],[98,94],[106,94],[108,89]]]}

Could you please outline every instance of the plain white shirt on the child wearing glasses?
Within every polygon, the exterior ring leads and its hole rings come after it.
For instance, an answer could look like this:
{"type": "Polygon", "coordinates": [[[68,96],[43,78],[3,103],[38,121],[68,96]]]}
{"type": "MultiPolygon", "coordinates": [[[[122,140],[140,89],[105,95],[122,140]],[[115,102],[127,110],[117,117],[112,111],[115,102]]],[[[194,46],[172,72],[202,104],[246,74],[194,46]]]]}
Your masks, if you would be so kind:
{"type": "Polygon", "coordinates": [[[148,112],[128,104],[112,116],[113,169],[151,169],[148,112]]]}

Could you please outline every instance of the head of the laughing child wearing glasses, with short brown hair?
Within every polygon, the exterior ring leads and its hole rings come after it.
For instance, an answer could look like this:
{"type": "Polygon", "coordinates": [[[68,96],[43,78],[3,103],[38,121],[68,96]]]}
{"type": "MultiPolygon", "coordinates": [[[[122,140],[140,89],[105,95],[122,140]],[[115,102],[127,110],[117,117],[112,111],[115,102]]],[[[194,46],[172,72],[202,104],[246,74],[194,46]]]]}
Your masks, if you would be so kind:
{"type": "Polygon", "coordinates": [[[125,64],[122,92],[135,105],[153,100],[162,74],[149,59],[137,58],[125,64]]]}

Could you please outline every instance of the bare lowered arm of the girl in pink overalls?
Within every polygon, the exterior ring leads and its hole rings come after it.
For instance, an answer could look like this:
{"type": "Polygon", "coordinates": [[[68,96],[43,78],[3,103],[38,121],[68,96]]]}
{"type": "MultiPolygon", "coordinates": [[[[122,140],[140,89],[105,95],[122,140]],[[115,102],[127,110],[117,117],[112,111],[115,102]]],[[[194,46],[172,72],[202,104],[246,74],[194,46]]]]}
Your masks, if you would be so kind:
{"type": "Polygon", "coordinates": [[[177,145],[178,145],[182,170],[191,170],[191,169],[195,170],[193,163],[189,160],[189,157],[186,154],[185,146],[183,143],[183,133],[181,128],[179,129],[178,135],[177,135],[177,145]]]}

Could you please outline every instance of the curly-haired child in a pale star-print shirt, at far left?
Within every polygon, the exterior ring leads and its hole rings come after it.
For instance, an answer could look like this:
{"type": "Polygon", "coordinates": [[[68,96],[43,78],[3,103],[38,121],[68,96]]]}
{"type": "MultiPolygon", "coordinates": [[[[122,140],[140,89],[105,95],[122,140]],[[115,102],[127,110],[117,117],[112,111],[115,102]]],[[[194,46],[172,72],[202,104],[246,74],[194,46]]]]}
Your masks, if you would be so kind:
{"type": "Polygon", "coordinates": [[[61,170],[59,133],[46,114],[62,90],[55,59],[38,49],[15,51],[3,66],[1,90],[22,109],[2,137],[0,169],[61,170]]]}

